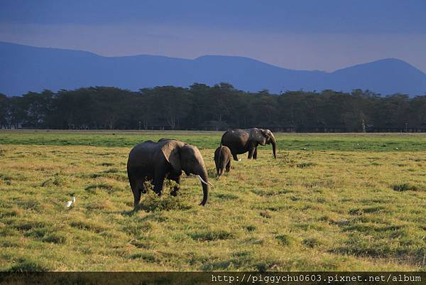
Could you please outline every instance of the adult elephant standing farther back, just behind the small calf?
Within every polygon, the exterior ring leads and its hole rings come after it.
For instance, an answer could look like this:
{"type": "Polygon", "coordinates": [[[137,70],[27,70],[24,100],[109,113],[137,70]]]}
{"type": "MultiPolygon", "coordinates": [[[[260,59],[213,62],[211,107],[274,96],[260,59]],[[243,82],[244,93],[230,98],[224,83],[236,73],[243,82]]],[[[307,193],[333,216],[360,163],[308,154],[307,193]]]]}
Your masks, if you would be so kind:
{"type": "Polygon", "coordinates": [[[249,151],[247,158],[257,158],[257,146],[272,144],[273,157],[277,158],[275,153],[276,141],[272,131],[268,129],[231,129],[222,135],[220,145],[228,146],[234,161],[238,161],[237,154],[245,154],[249,151]]]}

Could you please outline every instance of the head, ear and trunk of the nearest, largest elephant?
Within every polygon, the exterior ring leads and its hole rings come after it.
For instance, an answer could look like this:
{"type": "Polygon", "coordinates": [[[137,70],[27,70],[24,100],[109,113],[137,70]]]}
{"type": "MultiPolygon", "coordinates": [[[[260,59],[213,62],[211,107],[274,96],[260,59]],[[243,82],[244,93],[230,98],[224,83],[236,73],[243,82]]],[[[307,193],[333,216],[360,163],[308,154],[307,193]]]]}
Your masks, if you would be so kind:
{"type": "Polygon", "coordinates": [[[176,173],[184,171],[186,175],[192,173],[201,178],[203,191],[201,205],[205,205],[209,198],[209,185],[207,184],[209,182],[204,160],[197,147],[185,144],[182,141],[170,140],[163,145],[161,151],[163,151],[165,159],[173,167],[173,171],[176,173]]]}

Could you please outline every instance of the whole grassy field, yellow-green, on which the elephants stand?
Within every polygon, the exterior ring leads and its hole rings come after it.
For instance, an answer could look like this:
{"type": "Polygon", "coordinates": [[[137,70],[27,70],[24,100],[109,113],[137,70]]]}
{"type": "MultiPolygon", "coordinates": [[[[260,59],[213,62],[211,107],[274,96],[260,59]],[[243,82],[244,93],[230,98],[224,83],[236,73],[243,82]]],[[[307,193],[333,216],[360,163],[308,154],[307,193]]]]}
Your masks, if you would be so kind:
{"type": "Polygon", "coordinates": [[[277,134],[217,179],[221,134],[0,131],[0,270],[426,270],[425,135],[277,134]],[[132,210],[127,155],[161,137],[199,146],[205,207],[182,176],[132,210]]]}

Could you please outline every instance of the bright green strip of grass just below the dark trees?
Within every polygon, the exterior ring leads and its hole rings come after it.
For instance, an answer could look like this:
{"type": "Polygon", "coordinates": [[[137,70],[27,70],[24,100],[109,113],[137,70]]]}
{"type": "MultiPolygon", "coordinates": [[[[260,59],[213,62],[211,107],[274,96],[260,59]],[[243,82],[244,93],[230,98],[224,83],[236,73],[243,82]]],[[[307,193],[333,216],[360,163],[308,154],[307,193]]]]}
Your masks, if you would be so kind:
{"type": "MultiPolygon", "coordinates": [[[[0,144],[130,147],[173,138],[200,149],[219,146],[223,131],[0,131],[0,144]]],[[[426,151],[424,134],[275,134],[281,150],[426,151]]],[[[268,146],[271,148],[271,146],[268,146]]]]}

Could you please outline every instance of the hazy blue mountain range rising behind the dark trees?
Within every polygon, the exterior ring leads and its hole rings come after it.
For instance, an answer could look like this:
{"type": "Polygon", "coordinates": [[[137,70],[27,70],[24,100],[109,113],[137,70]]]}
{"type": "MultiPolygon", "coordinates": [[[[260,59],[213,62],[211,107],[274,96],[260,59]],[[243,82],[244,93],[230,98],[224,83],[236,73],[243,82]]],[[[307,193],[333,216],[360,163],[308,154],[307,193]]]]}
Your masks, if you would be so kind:
{"type": "Polygon", "coordinates": [[[21,95],[44,89],[114,86],[129,90],[194,82],[229,82],[239,90],[371,90],[390,95],[426,93],[426,74],[388,58],[334,72],[278,68],[251,58],[204,55],[194,60],[158,55],[104,57],[80,50],[35,48],[0,42],[0,92],[21,95]]]}

